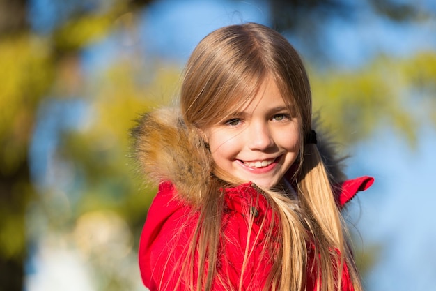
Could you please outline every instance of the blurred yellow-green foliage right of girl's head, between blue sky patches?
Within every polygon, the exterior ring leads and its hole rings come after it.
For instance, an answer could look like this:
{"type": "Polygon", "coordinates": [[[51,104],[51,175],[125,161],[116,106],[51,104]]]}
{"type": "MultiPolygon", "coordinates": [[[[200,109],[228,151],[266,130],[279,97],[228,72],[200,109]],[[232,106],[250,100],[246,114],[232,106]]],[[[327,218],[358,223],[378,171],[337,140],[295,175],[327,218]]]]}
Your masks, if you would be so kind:
{"type": "Polygon", "coordinates": [[[355,144],[388,126],[413,146],[416,128],[435,123],[436,52],[410,59],[379,57],[355,71],[311,76],[313,103],[339,142],[355,144]]]}

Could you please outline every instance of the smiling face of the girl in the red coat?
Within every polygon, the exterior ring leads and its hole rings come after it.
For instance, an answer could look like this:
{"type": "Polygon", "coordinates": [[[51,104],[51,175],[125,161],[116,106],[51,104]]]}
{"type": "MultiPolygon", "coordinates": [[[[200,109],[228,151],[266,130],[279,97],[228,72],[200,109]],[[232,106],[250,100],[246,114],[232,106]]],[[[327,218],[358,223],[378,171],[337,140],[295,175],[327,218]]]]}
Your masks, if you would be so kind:
{"type": "Polygon", "coordinates": [[[277,84],[267,78],[238,112],[203,131],[220,170],[241,181],[272,188],[297,159],[300,122],[277,84]]]}

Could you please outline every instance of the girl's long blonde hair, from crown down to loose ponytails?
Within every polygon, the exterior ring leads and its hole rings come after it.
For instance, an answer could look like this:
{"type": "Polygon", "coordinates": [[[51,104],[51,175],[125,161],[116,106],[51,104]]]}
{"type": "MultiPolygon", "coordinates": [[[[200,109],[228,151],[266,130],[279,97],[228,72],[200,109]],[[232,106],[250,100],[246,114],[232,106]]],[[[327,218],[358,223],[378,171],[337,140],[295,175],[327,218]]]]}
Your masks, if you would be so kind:
{"type": "MultiPolygon", "coordinates": [[[[301,151],[293,176],[298,201],[277,189],[259,189],[277,217],[270,225],[263,225],[267,229],[266,241],[279,241],[278,248],[265,246],[263,251],[276,259],[263,288],[304,290],[306,266],[313,264],[311,271],[318,279],[318,290],[341,290],[342,269],[346,264],[353,287],[359,291],[361,283],[344,238],[331,177],[316,145],[304,144],[304,136],[311,130],[311,91],[302,60],[286,38],[254,23],[223,27],[203,38],[187,62],[182,82],[180,106],[185,124],[198,129],[217,124],[231,113],[228,108],[237,109],[253,98],[266,77],[274,79],[283,100],[301,120],[301,151]],[[278,237],[272,235],[274,227],[279,228],[278,237]],[[310,244],[316,255],[310,255],[310,244]]],[[[182,272],[178,282],[183,281],[189,290],[211,290],[214,280],[230,286],[228,278],[217,278],[224,207],[224,193],[219,189],[237,183],[215,169],[207,181],[207,190],[198,193],[198,225],[187,246],[187,257],[179,262],[182,272]],[[198,269],[194,270],[196,254],[198,269]],[[194,274],[198,274],[197,278],[194,274]]],[[[253,219],[249,216],[249,224],[253,219]]],[[[249,250],[244,255],[244,262],[247,260],[249,250]]]]}

